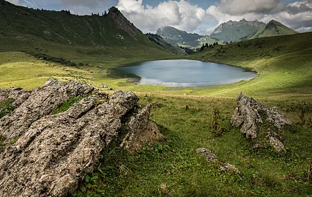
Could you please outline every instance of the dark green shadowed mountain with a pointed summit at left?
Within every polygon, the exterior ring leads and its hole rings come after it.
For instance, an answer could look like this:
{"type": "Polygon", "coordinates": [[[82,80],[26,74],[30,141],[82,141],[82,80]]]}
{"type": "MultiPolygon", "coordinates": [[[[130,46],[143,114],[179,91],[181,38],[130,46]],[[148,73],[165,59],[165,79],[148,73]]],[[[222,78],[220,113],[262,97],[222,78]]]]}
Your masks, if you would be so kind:
{"type": "MultiPolygon", "coordinates": [[[[91,46],[91,48],[106,50],[92,52],[98,55],[107,54],[107,51],[114,53],[112,50],[120,50],[116,48],[128,48],[128,50],[133,48],[132,51],[137,48],[144,51],[148,48],[162,53],[171,53],[150,41],[114,7],[110,8],[108,13],[101,15],[78,16],[71,15],[67,10],[24,8],[0,0],[0,10],[1,50],[15,50],[20,47],[19,50],[34,52],[35,47],[31,47],[33,44],[30,43],[36,43],[50,46],[54,44],[91,46]],[[6,46],[3,46],[5,43],[6,46]]],[[[52,48],[50,46],[48,47],[52,48]]],[[[42,47],[37,48],[42,50],[42,47]]],[[[78,50],[85,53],[84,49],[78,50]]]]}

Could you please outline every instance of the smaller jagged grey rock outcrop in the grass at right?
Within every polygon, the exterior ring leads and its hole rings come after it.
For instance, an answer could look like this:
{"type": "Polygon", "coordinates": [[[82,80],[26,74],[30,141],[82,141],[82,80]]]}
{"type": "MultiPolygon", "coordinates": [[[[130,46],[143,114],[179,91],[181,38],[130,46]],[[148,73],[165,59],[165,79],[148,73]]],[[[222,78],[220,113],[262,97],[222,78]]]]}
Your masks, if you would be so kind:
{"type": "MultiPolygon", "coordinates": [[[[263,123],[263,120],[279,130],[284,129],[284,126],[293,125],[276,107],[267,108],[252,97],[241,93],[237,97],[237,107],[231,120],[232,126],[239,127],[246,138],[254,139],[257,138],[259,125],[263,123]]],[[[268,131],[267,139],[277,151],[285,150],[277,133],[268,131]]]]}

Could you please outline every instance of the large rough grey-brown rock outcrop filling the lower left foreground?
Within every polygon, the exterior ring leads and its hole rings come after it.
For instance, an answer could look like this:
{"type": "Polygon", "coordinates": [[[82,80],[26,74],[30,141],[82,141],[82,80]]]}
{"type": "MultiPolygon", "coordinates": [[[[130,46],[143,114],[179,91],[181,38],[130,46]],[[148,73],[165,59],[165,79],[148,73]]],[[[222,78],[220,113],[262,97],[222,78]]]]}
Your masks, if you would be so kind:
{"type": "Polygon", "coordinates": [[[140,109],[134,93],[116,91],[109,101],[98,100],[107,95],[86,84],[49,81],[3,117],[0,135],[19,138],[0,153],[0,196],[67,196],[98,166],[125,116],[133,115],[126,123],[133,133],[148,128],[150,106],[140,109]],[[92,92],[64,113],[49,115],[71,95],[92,92]]]}

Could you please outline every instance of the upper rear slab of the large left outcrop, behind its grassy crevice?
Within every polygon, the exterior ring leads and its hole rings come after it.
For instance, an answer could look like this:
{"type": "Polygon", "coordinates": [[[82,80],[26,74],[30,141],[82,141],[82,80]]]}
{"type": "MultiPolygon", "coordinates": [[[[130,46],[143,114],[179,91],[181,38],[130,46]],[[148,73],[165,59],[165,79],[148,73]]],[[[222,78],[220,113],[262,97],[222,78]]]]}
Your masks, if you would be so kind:
{"type": "Polygon", "coordinates": [[[49,115],[70,97],[93,91],[94,88],[81,82],[62,83],[54,79],[33,91],[20,90],[14,95],[15,91],[12,90],[11,97],[17,97],[16,103],[19,107],[11,115],[6,115],[0,120],[0,131],[6,138],[5,143],[21,136],[35,120],[49,115]]]}

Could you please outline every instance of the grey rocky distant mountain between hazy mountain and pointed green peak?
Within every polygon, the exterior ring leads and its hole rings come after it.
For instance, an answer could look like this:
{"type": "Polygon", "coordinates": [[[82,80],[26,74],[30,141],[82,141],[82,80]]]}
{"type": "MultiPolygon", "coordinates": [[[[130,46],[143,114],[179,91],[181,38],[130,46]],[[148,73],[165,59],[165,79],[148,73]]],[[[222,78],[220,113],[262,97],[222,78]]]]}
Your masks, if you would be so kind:
{"type": "Polygon", "coordinates": [[[242,37],[257,32],[257,30],[264,26],[266,26],[265,23],[257,20],[246,21],[245,19],[241,19],[241,21],[228,21],[220,24],[210,36],[227,42],[237,41],[242,37]]]}

